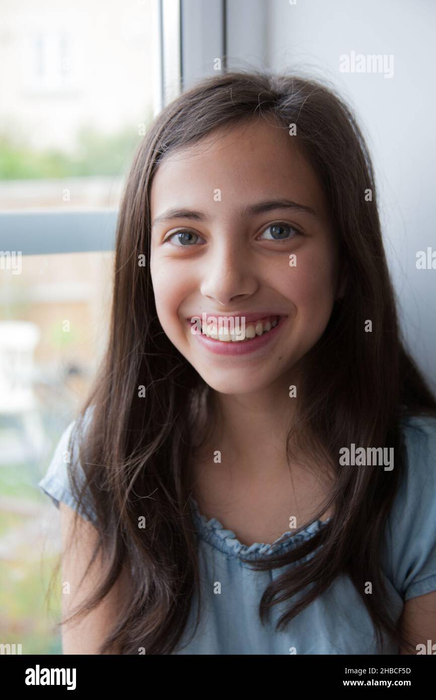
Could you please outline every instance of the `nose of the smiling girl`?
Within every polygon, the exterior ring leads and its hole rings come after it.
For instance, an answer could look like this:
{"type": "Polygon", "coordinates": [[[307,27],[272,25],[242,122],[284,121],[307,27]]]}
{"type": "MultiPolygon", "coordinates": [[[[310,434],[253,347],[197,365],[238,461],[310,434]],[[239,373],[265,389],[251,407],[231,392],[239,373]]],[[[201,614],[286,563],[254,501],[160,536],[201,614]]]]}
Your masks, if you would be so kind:
{"type": "Polygon", "coordinates": [[[201,262],[200,291],[223,306],[248,299],[259,287],[254,256],[237,233],[228,233],[222,232],[201,262]]]}

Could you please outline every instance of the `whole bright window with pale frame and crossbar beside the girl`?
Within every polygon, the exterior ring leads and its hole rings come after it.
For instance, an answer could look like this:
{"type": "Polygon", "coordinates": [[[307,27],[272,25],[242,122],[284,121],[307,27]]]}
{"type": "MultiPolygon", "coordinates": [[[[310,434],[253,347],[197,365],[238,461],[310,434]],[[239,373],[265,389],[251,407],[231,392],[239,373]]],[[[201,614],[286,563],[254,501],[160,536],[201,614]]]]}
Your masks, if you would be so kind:
{"type": "Polygon", "coordinates": [[[36,484],[105,348],[125,174],[164,104],[216,58],[225,70],[229,47],[259,52],[262,22],[236,25],[262,0],[1,5],[1,642],[59,654],[44,608],[58,553],[47,522],[58,548],[60,534],[36,484]]]}

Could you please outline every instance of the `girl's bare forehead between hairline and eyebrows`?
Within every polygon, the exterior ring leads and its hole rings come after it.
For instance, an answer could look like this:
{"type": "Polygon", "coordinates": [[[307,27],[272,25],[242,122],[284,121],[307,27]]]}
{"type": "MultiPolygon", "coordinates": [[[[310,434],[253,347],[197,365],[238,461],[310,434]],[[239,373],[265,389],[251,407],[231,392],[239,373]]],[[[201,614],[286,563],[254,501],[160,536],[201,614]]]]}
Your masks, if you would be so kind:
{"type": "Polygon", "coordinates": [[[152,217],[178,205],[213,206],[217,189],[226,211],[282,195],[326,216],[321,184],[295,139],[288,127],[255,118],[170,152],[153,176],[152,217]]]}

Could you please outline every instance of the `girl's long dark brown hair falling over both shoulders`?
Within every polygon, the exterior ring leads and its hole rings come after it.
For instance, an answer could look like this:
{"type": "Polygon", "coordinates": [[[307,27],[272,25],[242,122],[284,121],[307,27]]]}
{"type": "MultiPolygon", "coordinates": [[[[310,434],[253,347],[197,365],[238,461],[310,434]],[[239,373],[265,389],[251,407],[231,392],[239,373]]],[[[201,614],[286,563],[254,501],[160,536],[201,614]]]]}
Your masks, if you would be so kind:
{"type": "Polygon", "coordinates": [[[304,358],[298,420],[283,445],[289,454],[291,438],[297,440],[312,460],[332,465],[335,482],[316,518],[330,505],[335,514],[293,551],[251,561],[253,568],[268,570],[304,558],[268,585],[260,619],[265,622],[273,605],[308,587],[279,619],[276,629],[284,629],[346,573],[370,614],[379,649],[385,634],[407,645],[389,613],[380,545],[405,468],[400,419],[436,415],[436,400],[400,335],[372,162],[356,118],[331,86],[251,70],[206,78],[171,102],[141,141],[127,177],[118,217],[108,347],[71,435],[71,441],[80,443],[86,476],[80,487],[72,475],[76,497],[83,507],[85,493],[92,497],[99,531],[94,554],[100,552],[107,565],[101,583],[73,617],[92,610],[122,569],[131,573],[129,600],[101,653],[137,654],[146,647],[148,654],[170,654],[181,640],[195,590],[199,620],[190,463],[193,426],[201,405],[211,410],[210,392],[157,318],[149,267],[149,195],[153,174],[167,153],[253,116],[272,116],[275,125],[286,129],[296,125],[294,138],[328,197],[348,267],[346,293],[304,358]],[[372,201],[366,201],[368,189],[372,201]],[[146,256],[144,267],[138,264],[140,255],[146,256]],[[363,332],[367,319],[371,333],[363,332]],[[139,396],[140,386],[146,388],[145,396],[139,396]],[[92,419],[84,433],[89,409],[92,419]],[[341,468],[339,449],[351,442],[393,447],[395,469],[341,468]],[[138,526],[141,517],[145,528],[138,526]],[[365,594],[368,580],[376,595],[365,594]]]}

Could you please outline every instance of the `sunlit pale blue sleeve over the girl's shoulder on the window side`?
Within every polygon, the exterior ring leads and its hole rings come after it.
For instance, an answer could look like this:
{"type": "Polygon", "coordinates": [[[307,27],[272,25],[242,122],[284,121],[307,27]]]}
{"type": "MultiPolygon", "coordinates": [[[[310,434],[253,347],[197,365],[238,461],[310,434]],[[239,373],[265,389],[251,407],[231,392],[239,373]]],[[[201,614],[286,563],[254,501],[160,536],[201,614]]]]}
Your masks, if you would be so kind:
{"type": "Polygon", "coordinates": [[[85,495],[82,507],[78,507],[72,479],[81,486],[85,473],[79,461],[80,438],[90,426],[93,407],[89,407],[83,421],[75,419],[64,428],[56,444],[48,469],[38,482],[41,491],[50,497],[52,503],[59,508],[59,502],[66,503],[73,510],[79,510],[87,520],[94,521],[95,514],[91,505],[89,493],[85,495]]]}

